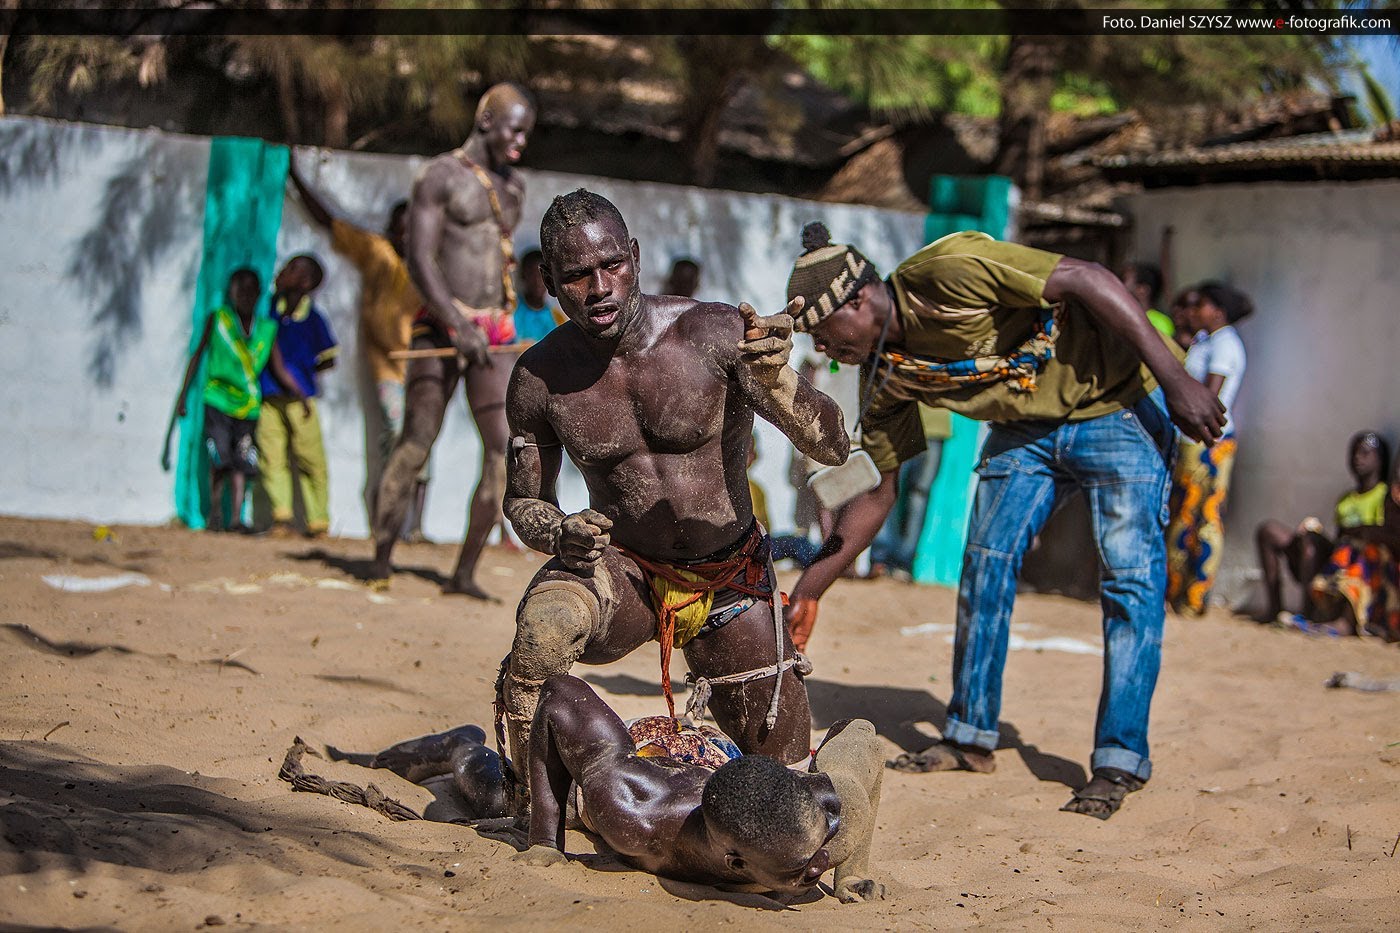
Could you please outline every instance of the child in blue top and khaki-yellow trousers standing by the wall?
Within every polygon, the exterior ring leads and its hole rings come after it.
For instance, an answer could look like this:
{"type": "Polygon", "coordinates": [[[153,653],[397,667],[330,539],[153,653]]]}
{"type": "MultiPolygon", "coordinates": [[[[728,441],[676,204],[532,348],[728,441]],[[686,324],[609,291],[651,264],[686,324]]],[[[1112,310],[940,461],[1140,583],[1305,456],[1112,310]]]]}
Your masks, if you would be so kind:
{"type": "Polygon", "coordinates": [[[258,452],[262,486],[272,506],[272,532],[291,534],[293,475],[301,486],[307,537],[318,538],[330,527],[326,448],[315,398],[316,374],[336,363],[336,339],[326,318],[311,303],[325,270],[315,256],[293,256],[277,273],[273,315],[277,319],[277,353],[281,371],[263,373],[263,410],[258,419],[258,452]]]}

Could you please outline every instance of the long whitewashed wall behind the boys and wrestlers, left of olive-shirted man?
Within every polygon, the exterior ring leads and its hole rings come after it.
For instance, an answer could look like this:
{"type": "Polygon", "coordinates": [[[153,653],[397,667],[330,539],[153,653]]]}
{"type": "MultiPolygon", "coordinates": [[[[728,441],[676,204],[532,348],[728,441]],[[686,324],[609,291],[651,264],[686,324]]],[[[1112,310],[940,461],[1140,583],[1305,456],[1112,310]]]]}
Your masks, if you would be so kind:
{"type": "MultiPolygon", "coordinates": [[[[0,410],[0,447],[10,451],[0,513],[123,523],[174,516],[172,479],[158,457],[190,332],[207,158],[200,137],[0,120],[0,366],[10,402],[0,410]]],[[[343,151],[298,158],[335,213],[371,228],[407,196],[421,163],[343,151]]],[[[617,203],[641,242],[647,290],[659,287],[672,259],[689,255],[704,266],[699,297],[767,311],[784,304],[806,220],[862,244],[883,269],[923,244],[920,214],[553,172],[526,179],[518,251],[538,244],[554,195],[587,186],[617,203]]],[[[279,255],[301,251],[326,261],[318,301],[344,346],[323,382],[332,532],[364,535],[374,426],[354,346],[358,277],[288,198],[279,255]]],[[[839,382],[854,394],[848,370],[839,382]]],[[[756,475],[783,530],[792,509],[788,447],[766,423],[759,434],[756,475]]],[[[433,457],[426,528],[456,538],[479,459],[461,394],[433,457]]],[[[561,492],[566,507],[582,504],[581,482],[561,492]]]]}

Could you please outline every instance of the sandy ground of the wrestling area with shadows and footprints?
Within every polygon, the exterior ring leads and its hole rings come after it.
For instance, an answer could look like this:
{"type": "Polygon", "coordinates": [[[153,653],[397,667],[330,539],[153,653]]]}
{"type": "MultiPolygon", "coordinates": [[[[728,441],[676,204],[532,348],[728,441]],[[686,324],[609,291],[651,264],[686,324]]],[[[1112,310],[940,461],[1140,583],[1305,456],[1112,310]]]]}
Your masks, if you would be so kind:
{"type": "MultiPolygon", "coordinates": [[[[470,828],[389,822],[293,793],[294,735],[375,751],[489,717],[538,556],[491,549],[505,602],[437,595],[447,546],[403,548],[386,597],[368,545],[0,518],[0,925],[274,929],[1380,929],[1400,922],[1400,651],[1228,618],[1170,619],[1156,775],[1110,822],[1063,814],[1085,779],[1095,607],[1022,597],[994,775],[886,772],[879,904],[787,909],[633,871],[582,835],[561,869],[470,828]],[[144,574],[67,593],[43,576],[144,574]],[[1054,640],[1050,640],[1054,639],[1054,640]],[[1037,649],[1039,646],[1039,649],[1037,649]],[[1071,649],[1070,651],[1061,649],[1071,649]]],[[[864,716],[921,748],[948,698],[953,595],[843,581],[823,602],[813,728],[864,716]],[[923,630],[907,632],[913,626],[923,630]]],[[[676,656],[680,664],[679,654],[676,656]]],[[[657,656],[580,668],[623,716],[661,709],[657,656]]],[[[678,671],[679,677],[679,671],[678,671]]],[[[314,770],[330,772],[319,759],[314,770]]],[[[336,765],[421,808],[424,790],[336,765]]]]}

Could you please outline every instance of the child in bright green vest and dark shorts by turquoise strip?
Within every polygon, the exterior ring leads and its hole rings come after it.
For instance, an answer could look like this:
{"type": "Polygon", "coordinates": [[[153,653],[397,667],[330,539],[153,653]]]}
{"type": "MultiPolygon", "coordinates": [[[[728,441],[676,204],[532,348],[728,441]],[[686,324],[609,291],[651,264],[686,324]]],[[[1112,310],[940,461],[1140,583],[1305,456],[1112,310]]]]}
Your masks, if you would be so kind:
{"type": "MultiPolygon", "coordinates": [[[[242,524],[246,483],[258,476],[253,430],[262,409],[258,378],[269,357],[277,352],[277,324],[258,317],[262,280],[252,269],[235,269],[228,276],[225,304],[214,308],[204,322],[204,333],[185,367],[175,415],[185,416],[185,398],[195,381],[199,361],[209,352],[204,380],[204,444],[209,448],[211,530],[224,527],[223,486],[231,495],[230,531],[245,531],[242,524]]],[[[168,466],[167,466],[168,468],[168,466]]]]}

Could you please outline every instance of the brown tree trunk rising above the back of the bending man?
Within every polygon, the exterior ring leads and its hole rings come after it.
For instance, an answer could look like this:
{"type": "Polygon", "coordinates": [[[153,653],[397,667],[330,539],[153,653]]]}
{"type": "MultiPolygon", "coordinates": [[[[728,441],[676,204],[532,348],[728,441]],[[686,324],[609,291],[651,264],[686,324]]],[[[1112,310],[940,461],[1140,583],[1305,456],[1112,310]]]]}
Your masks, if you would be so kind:
{"type": "Polygon", "coordinates": [[[1044,192],[1046,119],[1064,38],[1014,35],[1001,76],[1001,120],[993,171],[1008,175],[1028,199],[1044,192]]]}

